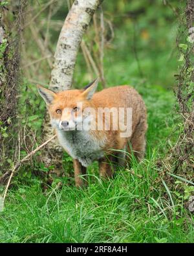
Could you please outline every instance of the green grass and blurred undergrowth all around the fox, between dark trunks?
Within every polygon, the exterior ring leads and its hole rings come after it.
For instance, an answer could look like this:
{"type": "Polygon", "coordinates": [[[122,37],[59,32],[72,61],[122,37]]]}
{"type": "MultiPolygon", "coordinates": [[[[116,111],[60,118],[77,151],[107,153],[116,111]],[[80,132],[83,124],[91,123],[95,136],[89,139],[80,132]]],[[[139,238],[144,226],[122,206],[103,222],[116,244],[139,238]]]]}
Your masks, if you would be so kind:
{"type": "MultiPolygon", "coordinates": [[[[39,1],[37,5],[33,1],[31,13],[35,16],[46,2],[39,1]]],[[[184,61],[175,40],[177,20],[185,4],[184,1],[179,5],[177,1],[171,1],[171,5],[165,2],[166,5],[159,0],[151,1],[150,5],[149,1],[130,1],[129,4],[120,0],[114,5],[104,1],[102,5],[107,42],[103,58],[106,86],[131,84],[146,102],[149,128],[144,161],[136,163],[133,158],[130,169],[118,169],[109,181],[99,179],[98,166],[94,163],[89,168],[89,186],[76,189],[72,161],[66,153],[65,172],[55,178],[54,167],[46,167],[40,153],[36,154],[12,181],[5,209],[0,213],[0,242],[194,242],[194,218],[188,210],[189,198],[194,192],[193,180],[180,172],[166,173],[166,169],[164,175],[160,161],[166,159],[182,129],[175,111],[173,87],[178,64],[184,61]]],[[[10,156],[4,159],[10,167],[18,155],[22,158],[41,144],[45,104],[35,84],[48,84],[50,67],[47,58],[36,60],[40,54],[43,58],[54,52],[61,22],[68,12],[68,5],[63,5],[63,1],[58,1],[55,6],[47,6],[36,22],[27,24],[25,29],[18,133],[7,129],[7,135],[3,135],[4,143],[14,137],[20,145],[20,148],[10,148],[10,156]],[[39,52],[38,42],[30,40],[35,24],[38,31],[34,33],[43,41],[47,38],[45,52],[39,52]]],[[[101,11],[98,12],[97,20],[101,11]]],[[[98,66],[95,52],[99,49],[94,36],[91,24],[84,41],[98,66]]],[[[85,86],[95,76],[83,57],[80,50],[74,87],[85,86]]],[[[102,87],[100,84],[99,89],[102,87]]],[[[4,122],[1,124],[3,129],[6,126],[4,122]]],[[[1,185],[0,192],[4,189],[1,185]]]]}

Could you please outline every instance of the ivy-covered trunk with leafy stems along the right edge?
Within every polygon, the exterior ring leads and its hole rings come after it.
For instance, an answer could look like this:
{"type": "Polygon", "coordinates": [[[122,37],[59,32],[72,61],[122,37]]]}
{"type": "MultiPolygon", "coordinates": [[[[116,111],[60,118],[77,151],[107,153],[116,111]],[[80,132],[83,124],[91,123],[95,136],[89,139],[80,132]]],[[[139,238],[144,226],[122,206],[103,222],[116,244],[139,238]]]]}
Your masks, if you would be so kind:
{"type": "Polygon", "coordinates": [[[180,20],[177,35],[177,45],[180,54],[178,62],[177,86],[175,96],[177,98],[176,110],[179,113],[178,139],[176,145],[171,148],[164,158],[164,169],[171,172],[184,174],[184,178],[192,178],[194,170],[194,71],[193,71],[193,21],[194,3],[188,1],[185,15],[180,20]]]}

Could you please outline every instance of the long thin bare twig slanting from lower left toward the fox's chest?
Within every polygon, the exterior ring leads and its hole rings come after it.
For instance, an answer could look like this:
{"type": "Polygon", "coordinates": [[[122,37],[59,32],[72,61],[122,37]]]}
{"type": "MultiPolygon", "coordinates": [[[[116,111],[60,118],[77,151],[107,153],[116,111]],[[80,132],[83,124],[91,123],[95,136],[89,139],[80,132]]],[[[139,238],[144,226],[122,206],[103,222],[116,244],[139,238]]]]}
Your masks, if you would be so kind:
{"type": "Polygon", "coordinates": [[[50,141],[52,141],[52,139],[54,139],[56,137],[56,135],[52,136],[50,139],[48,139],[48,141],[45,141],[43,144],[41,144],[40,146],[38,146],[38,148],[36,148],[35,150],[33,150],[32,152],[30,152],[27,156],[25,156],[23,159],[21,159],[21,161],[18,161],[16,163],[16,165],[14,165],[14,168],[12,169],[10,178],[8,180],[8,183],[6,184],[6,188],[3,194],[3,201],[5,201],[5,197],[6,197],[6,193],[8,191],[8,187],[10,185],[10,181],[12,180],[12,177],[14,175],[14,172],[17,170],[17,168],[19,168],[21,166],[21,164],[25,161],[27,161],[28,159],[30,159],[30,157],[32,157],[37,151],[39,151],[41,148],[43,148],[43,146],[47,145],[50,141]]]}

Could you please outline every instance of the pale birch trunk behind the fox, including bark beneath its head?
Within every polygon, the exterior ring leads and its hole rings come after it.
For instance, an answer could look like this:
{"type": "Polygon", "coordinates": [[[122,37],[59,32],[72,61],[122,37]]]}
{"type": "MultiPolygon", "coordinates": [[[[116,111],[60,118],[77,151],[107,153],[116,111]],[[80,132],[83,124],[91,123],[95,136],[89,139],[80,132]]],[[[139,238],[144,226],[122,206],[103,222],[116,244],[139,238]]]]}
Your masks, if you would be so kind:
{"type": "MultiPolygon", "coordinates": [[[[49,88],[54,91],[63,91],[72,86],[72,77],[76,56],[81,39],[91,21],[95,10],[103,0],[75,0],[59,35],[54,65],[51,72],[49,88]]],[[[47,141],[53,135],[48,113],[43,122],[43,140],[47,141]]],[[[58,141],[48,144],[42,154],[46,166],[54,165],[54,172],[62,172],[63,150],[58,141]]]]}

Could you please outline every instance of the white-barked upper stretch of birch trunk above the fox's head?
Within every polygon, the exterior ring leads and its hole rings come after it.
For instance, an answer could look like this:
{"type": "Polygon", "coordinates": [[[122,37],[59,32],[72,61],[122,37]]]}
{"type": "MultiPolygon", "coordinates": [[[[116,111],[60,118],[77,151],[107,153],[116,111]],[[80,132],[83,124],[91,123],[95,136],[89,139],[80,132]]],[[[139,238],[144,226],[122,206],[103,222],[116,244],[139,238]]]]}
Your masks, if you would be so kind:
{"type": "Polygon", "coordinates": [[[54,56],[54,67],[51,73],[50,89],[54,89],[54,91],[70,89],[82,36],[91,21],[92,15],[102,1],[74,1],[59,35],[54,56]]]}

